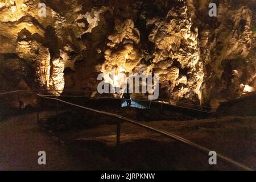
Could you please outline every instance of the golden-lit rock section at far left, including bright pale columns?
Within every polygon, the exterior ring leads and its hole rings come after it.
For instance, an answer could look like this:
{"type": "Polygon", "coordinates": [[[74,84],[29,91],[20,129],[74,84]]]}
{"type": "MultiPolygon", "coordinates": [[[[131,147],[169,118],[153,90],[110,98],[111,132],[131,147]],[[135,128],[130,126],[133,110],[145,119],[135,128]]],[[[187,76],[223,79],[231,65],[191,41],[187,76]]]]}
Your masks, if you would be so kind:
{"type": "MultiPolygon", "coordinates": [[[[39,3],[39,1],[38,1],[39,3]]],[[[64,89],[64,61],[59,56],[58,38],[33,10],[38,3],[25,0],[1,1],[0,47],[1,89],[64,89]],[[51,43],[52,42],[52,43],[51,43]],[[6,77],[10,58],[19,69],[6,77]]]]}

